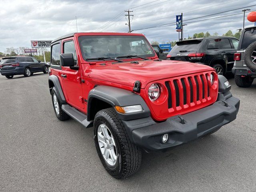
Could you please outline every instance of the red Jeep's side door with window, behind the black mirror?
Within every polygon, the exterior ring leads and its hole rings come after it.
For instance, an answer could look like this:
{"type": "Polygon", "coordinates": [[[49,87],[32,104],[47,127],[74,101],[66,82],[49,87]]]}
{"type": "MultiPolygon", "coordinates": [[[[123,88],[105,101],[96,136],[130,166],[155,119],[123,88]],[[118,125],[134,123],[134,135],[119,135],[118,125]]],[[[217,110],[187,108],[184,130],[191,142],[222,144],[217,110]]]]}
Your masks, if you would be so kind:
{"type": "MultiPolygon", "coordinates": [[[[75,65],[80,66],[77,61],[76,49],[73,40],[63,42],[63,53],[72,53],[75,65]]],[[[62,66],[61,78],[66,100],[72,106],[84,109],[81,74],[81,67],[79,67],[79,70],[72,70],[70,67],[62,66]]]]}

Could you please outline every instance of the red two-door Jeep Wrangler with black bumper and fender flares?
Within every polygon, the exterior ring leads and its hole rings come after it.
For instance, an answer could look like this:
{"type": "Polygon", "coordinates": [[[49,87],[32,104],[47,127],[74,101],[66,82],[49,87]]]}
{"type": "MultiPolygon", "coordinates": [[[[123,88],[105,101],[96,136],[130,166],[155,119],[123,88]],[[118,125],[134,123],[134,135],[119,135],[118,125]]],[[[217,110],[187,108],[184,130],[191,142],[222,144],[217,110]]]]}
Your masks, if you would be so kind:
{"type": "Polygon", "coordinates": [[[139,169],[141,149],[172,148],[236,119],[240,100],[224,76],[157,54],[134,33],[72,33],[52,42],[55,114],[94,127],[98,156],[115,178],[139,169]]]}

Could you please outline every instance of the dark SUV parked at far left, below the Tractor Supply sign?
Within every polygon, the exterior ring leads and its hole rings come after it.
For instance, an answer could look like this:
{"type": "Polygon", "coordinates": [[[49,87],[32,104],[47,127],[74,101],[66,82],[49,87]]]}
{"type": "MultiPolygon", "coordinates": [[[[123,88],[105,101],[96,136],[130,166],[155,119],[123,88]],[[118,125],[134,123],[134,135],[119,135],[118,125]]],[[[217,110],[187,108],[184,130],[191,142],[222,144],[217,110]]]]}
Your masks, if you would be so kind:
{"type": "Polygon", "coordinates": [[[0,62],[0,73],[11,79],[14,75],[31,76],[36,72],[48,73],[48,65],[34,57],[6,57],[0,62]]]}

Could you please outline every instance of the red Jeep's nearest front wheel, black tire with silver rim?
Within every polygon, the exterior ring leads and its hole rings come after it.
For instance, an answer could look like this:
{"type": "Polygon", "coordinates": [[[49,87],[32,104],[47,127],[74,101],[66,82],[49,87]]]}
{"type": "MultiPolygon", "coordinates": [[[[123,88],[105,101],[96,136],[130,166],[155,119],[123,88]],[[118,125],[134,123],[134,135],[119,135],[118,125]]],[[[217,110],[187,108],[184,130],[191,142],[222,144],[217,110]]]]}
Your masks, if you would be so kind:
{"type": "Polygon", "coordinates": [[[122,120],[113,108],[97,112],[94,142],[100,161],[114,178],[126,178],[140,168],[141,150],[130,141],[122,120]]]}

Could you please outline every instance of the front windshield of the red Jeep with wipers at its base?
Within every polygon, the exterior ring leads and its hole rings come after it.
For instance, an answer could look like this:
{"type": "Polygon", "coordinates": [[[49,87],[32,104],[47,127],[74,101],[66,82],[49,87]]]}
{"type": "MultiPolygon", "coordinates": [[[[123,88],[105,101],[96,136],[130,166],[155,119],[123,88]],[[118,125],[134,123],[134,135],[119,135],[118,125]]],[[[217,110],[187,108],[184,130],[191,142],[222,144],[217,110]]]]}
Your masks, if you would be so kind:
{"type": "Polygon", "coordinates": [[[80,36],[78,41],[84,60],[128,55],[155,56],[155,52],[143,36],[80,36]]]}

